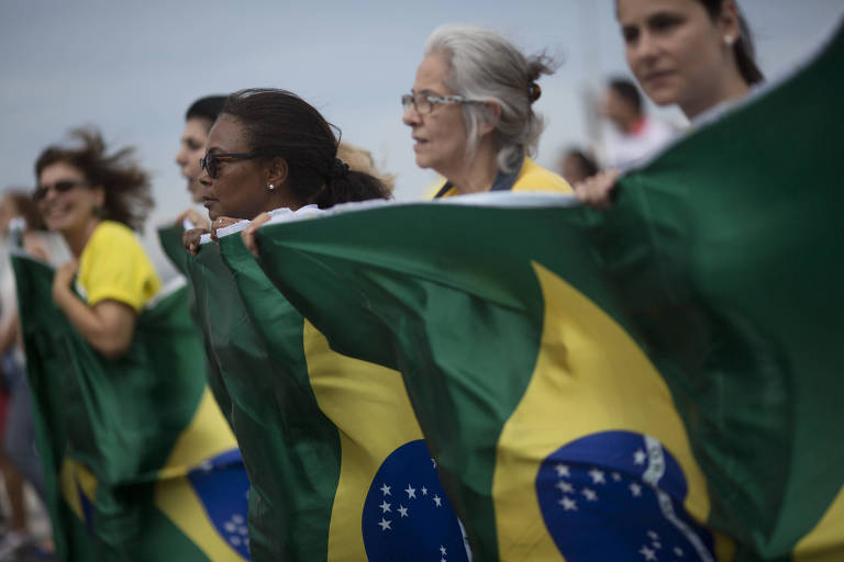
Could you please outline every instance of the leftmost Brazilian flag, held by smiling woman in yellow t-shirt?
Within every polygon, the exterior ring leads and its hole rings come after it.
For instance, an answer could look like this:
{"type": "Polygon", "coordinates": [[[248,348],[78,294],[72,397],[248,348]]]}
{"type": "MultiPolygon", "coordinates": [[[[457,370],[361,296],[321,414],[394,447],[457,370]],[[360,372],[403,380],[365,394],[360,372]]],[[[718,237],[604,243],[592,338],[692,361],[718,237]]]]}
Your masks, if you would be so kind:
{"type": "Polygon", "coordinates": [[[186,292],[97,353],[53,303],[53,270],[12,257],[58,560],[248,560],[248,480],[204,380],[186,292]]]}

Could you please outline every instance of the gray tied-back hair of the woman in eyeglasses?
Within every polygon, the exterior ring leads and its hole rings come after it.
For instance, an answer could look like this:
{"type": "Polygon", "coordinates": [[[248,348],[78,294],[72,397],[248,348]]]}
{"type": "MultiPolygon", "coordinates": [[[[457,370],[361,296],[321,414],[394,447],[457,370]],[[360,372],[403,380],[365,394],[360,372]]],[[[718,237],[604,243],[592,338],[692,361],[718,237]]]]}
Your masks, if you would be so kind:
{"type": "MultiPolygon", "coordinates": [[[[491,30],[442,25],[425,42],[425,56],[442,53],[447,57],[445,86],[456,94],[496,101],[501,116],[496,125],[498,167],[511,172],[525,154],[533,156],[544,120],[531,104],[538,98],[536,80],[554,72],[554,63],[544,53],[526,57],[507,37],[491,30]]],[[[478,146],[478,130],[491,119],[486,105],[463,104],[463,121],[468,135],[467,157],[478,146]]]]}

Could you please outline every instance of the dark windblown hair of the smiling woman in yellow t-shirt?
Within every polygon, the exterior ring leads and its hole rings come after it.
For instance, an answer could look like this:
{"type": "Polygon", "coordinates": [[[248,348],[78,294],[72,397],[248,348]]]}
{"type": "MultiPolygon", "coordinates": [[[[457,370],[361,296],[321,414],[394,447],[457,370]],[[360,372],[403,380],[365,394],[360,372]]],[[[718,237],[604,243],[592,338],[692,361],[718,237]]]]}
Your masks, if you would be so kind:
{"type": "Polygon", "coordinates": [[[79,142],[78,148],[52,145],[41,153],[35,161],[36,181],[47,166],[68,164],[81,171],[90,186],[102,187],[106,193],[102,218],[142,231],[155,203],[149,175],[133,158],[134,147],[108,154],[102,135],[95,128],[76,128],[70,137],[79,142]]]}

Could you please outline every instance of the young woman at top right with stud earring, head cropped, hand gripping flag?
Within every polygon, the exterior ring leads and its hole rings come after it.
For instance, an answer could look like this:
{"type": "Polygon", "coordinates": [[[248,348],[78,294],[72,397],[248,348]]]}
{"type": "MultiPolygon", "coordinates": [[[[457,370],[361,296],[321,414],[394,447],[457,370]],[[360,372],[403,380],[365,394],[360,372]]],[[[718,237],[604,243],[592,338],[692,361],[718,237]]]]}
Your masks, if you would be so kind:
{"type": "MultiPolygon", "coordinates": [[[[753,38],[735,0],[617,0],[628,65],[657,105],[676,103],[695,122],[746,95],[764,80],[753,38]]],[[[619,178],[609,170],[576,187],[607,209],[619,178]]]]}

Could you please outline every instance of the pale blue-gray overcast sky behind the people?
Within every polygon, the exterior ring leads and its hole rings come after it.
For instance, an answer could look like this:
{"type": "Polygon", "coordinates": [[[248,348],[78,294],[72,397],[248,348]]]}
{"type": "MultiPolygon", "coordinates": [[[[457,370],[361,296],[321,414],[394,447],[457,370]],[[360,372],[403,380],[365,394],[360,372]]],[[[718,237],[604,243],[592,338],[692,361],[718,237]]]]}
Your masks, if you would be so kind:
{"type": "MultiPolygon", "coordinates": [[[[741,5],[769,76],[817,48],[844,14],[842,0],[741,5]]],[[[136,146],[154,173],[157,209],[147,233],[188,204],[173,158],[185,110],[202,95],[292,90],[398,173],[398,199],[413,199],[433,176],[414,165],[399,97],[437,25],[493,27],[563,63],[540,81],[535,105],[548,121],[538,154],[548,167],[563,148],[588,139],[584,92],[629,74],[611,0],[0,0],[0,189],[31,188],[42,148],[75,126],[97,125],[112,146],[136,146]]]]}

